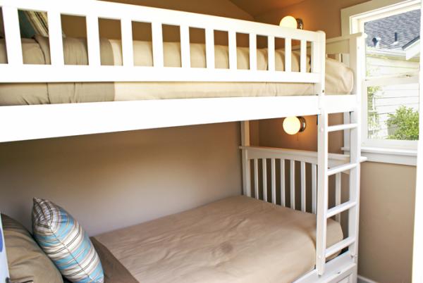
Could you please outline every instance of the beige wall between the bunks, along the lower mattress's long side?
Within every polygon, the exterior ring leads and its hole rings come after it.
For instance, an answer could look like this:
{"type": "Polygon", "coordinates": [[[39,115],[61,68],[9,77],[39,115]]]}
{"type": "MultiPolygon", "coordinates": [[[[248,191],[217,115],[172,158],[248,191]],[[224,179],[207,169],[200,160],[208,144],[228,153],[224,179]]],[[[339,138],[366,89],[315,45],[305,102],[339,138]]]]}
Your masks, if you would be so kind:
{"type": "Polygon", "coordinates": [[[0,208],[50,199],[90,235],[241,194],[239,123],[0,144],[0,208]]]}

